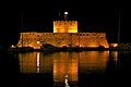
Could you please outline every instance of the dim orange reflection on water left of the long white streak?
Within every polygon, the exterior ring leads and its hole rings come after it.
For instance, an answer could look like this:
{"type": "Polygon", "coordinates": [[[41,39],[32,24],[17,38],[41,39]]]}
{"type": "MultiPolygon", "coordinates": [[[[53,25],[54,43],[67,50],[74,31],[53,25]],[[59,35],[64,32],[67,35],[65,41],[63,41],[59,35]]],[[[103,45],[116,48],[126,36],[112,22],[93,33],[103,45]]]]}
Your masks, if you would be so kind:
{"type": "Polygon", "coordinates": [[[21,73],[36,73],[37,52],[20,53],[19,60],[21,73]]]}

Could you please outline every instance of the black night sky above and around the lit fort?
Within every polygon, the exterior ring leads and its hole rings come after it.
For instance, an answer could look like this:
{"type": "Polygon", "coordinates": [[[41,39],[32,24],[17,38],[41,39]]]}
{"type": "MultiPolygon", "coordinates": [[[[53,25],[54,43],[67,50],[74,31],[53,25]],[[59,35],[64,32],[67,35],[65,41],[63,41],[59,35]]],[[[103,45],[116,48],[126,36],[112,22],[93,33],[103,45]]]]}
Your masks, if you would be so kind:
{"type": "Polygon", "coordinates": [[[123,4],[105,2],[43,2],[43,3],[19,3],[16,5],[3,7],[1,11],[1,44],[16,44],[19,33],[45,32],[52,33],[52,21],[62,20],[63,12],[69,12],[69,20],[78,21],[79,32],[106,33],[108,42],[117,42],[118,23],[120,13],[120,42],[131,42],[129,39],[131,13],[130,8],[123,4]],[[59,16],[59,13],[61,14],[59,16]]]}

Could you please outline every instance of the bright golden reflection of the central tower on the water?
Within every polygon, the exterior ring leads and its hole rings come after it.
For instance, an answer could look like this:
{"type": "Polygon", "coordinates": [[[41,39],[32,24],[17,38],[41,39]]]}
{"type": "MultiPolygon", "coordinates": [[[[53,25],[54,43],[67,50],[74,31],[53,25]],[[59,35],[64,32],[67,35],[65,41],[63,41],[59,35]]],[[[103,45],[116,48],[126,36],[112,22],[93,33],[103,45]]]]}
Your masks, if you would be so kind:
{"type": "Polygon", "coordinates": [[[60,52],[53,58],[53,80],[64,82],[68,75],[69,82],[78,82],[79,53],[60,52]]]}

